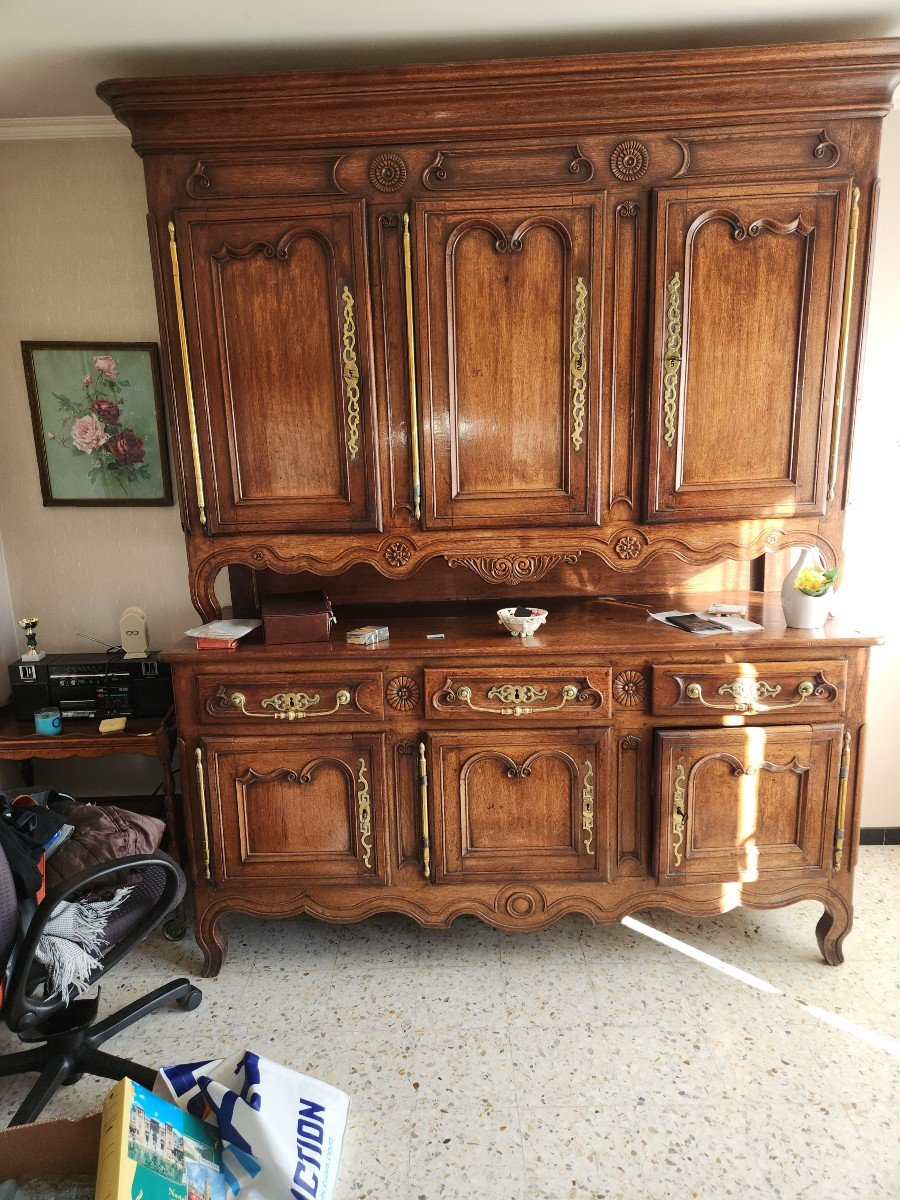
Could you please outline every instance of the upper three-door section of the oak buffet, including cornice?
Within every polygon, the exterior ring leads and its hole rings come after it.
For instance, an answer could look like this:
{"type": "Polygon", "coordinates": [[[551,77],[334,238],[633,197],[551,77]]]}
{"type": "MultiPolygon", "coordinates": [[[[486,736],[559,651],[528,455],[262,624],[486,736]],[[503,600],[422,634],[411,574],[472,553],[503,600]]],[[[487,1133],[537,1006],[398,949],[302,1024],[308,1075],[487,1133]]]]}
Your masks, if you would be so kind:
{"type": "Polygon", "coordinates": [[[898,82],[880,40],[102,84],[197,600],[839,558],[898,82]]]}

